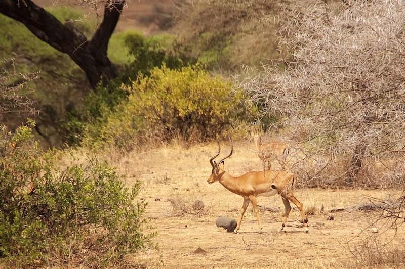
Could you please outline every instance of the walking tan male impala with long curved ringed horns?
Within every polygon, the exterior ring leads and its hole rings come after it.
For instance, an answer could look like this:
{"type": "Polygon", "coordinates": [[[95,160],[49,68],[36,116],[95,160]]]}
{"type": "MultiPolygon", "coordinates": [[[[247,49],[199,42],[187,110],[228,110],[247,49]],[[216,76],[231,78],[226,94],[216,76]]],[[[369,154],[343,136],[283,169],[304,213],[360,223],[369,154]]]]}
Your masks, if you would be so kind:
{"type": "Polygon", "coordinates": [[[291,206],[290,202],[293,202],[301,213],[301,222],[304,223],[305,232],[308,232],[307,222],[308,219],[305,217],[304,209],[302,203],[300,203],[293,195],[293,185],[296,183],[297,177],[285,170],[267,170],[265,173],[263,171],[258,172],[249,172],[241,176],[231,176],[224,171],[224,160],[229,158],[233,153],[233,144],[231,141],[231,152],[228,156],[223,158],[217,164],[213,160],[218,157],[221,151],[220,145],[218,143],[218,152],[214,157],[210,159],[210,164],[212,166],[212,172],[208,178],[208,183],[212,184],[216,181],[219,181],[226,189],[229,191],[238,194],[244,198],[244,204],[240,209],[239,219],[237,221],[237,226],[234,233],[240,228],[240,222],[242,222],[242,217],[245,214],[246,208],[249,205],[249,202],[252,203],[253,211],[256,214],[257,222],[259,223],[259,232],[262,230],[262,223],[260,221],[259,210],[257,208],[258,196],[273,196],[279,194],[282,198],[282,202],[286,207],[286,212],[284,214],[284,219],[282,220],[281,229],[284,229],[286,225],[287,217],[290,213],[291,206]]]}

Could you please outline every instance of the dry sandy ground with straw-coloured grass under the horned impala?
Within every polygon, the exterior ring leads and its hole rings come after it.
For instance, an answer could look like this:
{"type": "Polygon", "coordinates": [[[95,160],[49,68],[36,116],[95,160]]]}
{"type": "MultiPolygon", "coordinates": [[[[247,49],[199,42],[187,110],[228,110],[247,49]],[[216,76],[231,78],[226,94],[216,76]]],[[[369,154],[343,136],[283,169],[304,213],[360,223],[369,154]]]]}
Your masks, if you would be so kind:
{"type": "MultiPolygon", "coordinates": [[[[229,152],[229,147],[223,146],[220,157],[229,152]]],[[[234,175],[260,170],[261,163],[253,149],[253,143],[235,143],[233,155],[225,161],[225,170],[234,175]]],[[[372,234],[368,226],[374,218],[361,211],[346,211],[333,213],[334,220],[327,220],[331,215],[328,211],[367,202],[365,195],[384,198],[395,192],[297,189],[296,197],[304,207],[318,209],[322,204],[325,207],[325,213],[308,216],[308,234],[299,226],[296,210],[291,211],[284,233],[276,232],[282,213],[261,211],[264,228],[261,234],[258,233],[251,205],[239,233],[227,233],[216,227],[215,220],[218,216],[236,218],[243,199],[218,182],[207,183],[211,172],[209,158],[215,151],[215,144],[190,149],[170,146],[144,153],[133,152],[120,159],[118,167],[128,175],[126,184],[132,185],[136,178],[142,181],[140,199],[148,202],[145,215],[158,232],[155,241],[159,249],[139,254],[135,257],[139,263],[167,268],[350,267],[355,259],[349,247],[359,244],[360,238],[356,236],[363,229],[366,230],[362,236],[372,234]],[[195,215],[188,210],[181,215],[173,210],[171,199],[184,201],[188,208],[199,199],[204,202],[206,211],[195,215]],[[206,252],[194,253],[198,252],[197,248],[206,252]]],[[[281,198],[277,196],[259,197],[258,203],[284,210],[281,198]]],[[[383,228],[379,225],[381,234],[383,228]]],[[[399,238],[404,238],[403,232],[399,231],[399,238]]],[[[389,237],[381,235],[382,240],[389,237]]]]}

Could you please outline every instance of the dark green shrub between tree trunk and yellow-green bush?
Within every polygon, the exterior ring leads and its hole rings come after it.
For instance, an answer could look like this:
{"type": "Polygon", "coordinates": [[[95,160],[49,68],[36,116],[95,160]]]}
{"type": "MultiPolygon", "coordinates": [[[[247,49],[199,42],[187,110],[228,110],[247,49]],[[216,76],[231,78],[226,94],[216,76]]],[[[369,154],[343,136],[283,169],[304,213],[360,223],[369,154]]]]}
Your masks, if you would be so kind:
{"type": "MultiPolygon", "coordinates": [[[[117,110],[117,106],[126,103],[131,92],[123,84],[132,84],[138,76],[148,76],[155,67],[163,65],[172,69],[179,69],[184,64],[193,62],[192,59],[179,56],[173,48],[174,38],[170,35],[160,35],[146,38],[138,32],[127,31],[120,35],[121,43],[125,43],[126,50],[133,61],[129,63],[123,73],[108,85],[99,85],[86,97],[85,115],[79,114],[67,118],[64,126],[72,133],[82,135],[81,131],[88,129],[90,137],[98,137],[104,128],[110,114],[117,110]],[[79,124],[83,122],[83,124],[79,124]],[[87,122],[87,123],[86,123],[87,122]]],[[[71,140],[77,141],[77,140],[71,140]]]]}

